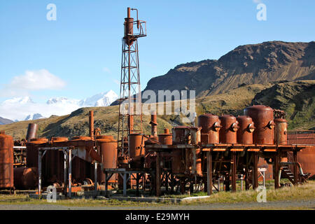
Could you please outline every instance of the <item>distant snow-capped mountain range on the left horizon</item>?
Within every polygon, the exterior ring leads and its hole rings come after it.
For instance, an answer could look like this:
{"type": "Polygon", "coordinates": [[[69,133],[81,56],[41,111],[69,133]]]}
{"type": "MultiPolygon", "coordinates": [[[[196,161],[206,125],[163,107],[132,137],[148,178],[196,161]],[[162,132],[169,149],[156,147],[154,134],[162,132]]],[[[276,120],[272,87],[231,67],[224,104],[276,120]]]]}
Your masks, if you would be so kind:
{"type": "Polygon", "coordinates": [[[10,120],[36,120],[52,115],[63,116],[80,107],[109,106],[116,99],[118,95],[113,90],[85,99],[53,97],[45,103],[33,102],[29,97],[15,97],[0,103],[0,116],[10,120]]]}

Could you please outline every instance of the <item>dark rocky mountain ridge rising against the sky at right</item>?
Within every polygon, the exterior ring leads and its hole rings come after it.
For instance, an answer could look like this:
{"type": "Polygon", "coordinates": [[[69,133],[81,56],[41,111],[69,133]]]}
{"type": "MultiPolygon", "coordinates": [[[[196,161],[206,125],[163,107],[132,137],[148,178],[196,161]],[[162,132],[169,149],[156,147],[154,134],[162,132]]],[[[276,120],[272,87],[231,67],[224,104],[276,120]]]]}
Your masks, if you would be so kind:
{"type": "Polygon", "coordinates": [[[220,94],[241,85],[315,79],[315,42],[269,41],[241,45],[218,60],[180,64],[151,78],[145,90],[196,90],[220,94]]]}

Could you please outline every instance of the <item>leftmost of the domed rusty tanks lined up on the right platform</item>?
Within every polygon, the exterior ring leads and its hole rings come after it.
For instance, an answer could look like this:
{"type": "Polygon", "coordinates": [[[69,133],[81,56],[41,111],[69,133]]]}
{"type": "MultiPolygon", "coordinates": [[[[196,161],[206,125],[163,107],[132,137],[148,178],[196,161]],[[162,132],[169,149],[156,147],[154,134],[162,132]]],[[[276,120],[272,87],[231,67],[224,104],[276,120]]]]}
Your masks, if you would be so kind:
{"type": "Polygon", "coordinates": [[[221,123],[218,116],[206,113],[198,117],[198,127],[202,127],[202,144],[218,144],[221,123]]]}

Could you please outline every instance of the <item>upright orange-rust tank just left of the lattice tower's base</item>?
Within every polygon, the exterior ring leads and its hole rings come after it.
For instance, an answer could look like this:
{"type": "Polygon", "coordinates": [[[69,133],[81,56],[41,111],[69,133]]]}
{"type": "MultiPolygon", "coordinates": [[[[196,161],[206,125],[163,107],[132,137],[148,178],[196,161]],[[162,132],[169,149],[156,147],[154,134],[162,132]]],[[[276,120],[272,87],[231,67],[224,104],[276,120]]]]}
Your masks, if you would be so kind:
{"type": "MultiPolygon", "coordinates": [[[[102,158],[103,169],[117,168],[117,141],[111,135],[103,135],[96,137],[97,150],[102,158]]],[[[105,183],[105,175],[99,170],[100,183],[105,183]]],[[[111,176],[109,183],[116,182],[116,175],[111,176]]]]}

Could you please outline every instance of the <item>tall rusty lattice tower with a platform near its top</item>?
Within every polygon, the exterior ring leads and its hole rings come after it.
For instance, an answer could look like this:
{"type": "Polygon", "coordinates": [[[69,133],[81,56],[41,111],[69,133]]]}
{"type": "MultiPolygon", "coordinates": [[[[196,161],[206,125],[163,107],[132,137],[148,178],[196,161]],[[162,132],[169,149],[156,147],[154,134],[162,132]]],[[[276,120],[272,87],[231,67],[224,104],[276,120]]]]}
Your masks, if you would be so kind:
{"type": "Polygon", "coordinates": [[[127,8],[124,22],[123,53],[121,61],[118,155],[128,155],[127,137],[130,133],[142,133],[141,86],[139,73],[138,41],[146,36],[146,22],[138,20],[138,10],[127,8]],[[130,10],[137,11],[137,20],[130,17],[130,10]],[[136,28],[137,26],[137,28],[136,28]],[[139,117],[140,130],[134,130],[134,116],[139,117]],[[124,144],[125,142],[125,144],[124,144]]]}

